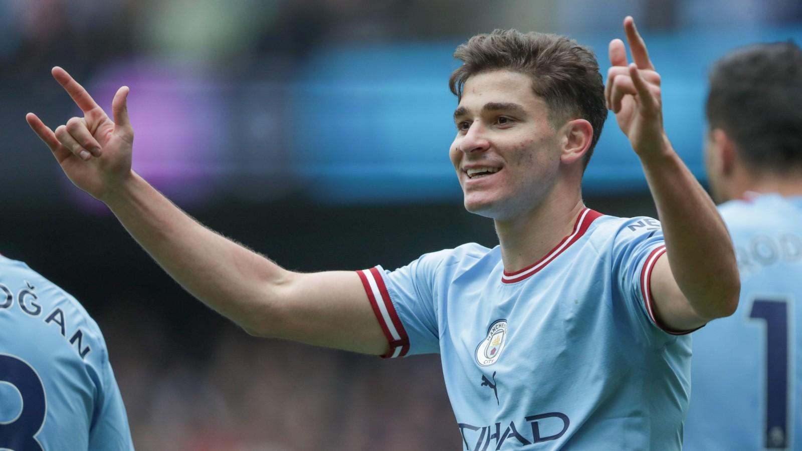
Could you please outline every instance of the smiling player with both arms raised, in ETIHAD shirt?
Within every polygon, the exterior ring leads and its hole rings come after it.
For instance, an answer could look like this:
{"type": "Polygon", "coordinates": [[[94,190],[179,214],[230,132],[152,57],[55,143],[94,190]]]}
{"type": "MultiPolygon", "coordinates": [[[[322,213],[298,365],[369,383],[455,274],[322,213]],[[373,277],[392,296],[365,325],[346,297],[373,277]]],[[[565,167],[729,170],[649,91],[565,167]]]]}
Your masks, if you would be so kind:
{"type": "Polygon", "coordinates": [[[663,132],[659,75],[632,18],[625,29],[634,63],[614,40],[606,91],[593,53],[561,36],[495,31],[457,48],[449,153],[466,209],[494,219],[500,246],[395,271],[290,272],[198,224],[132,172],[127,87],[112,121],[56,67],[83,118],[55,132],[27,120],[75,185],[249,333],[386,357],[439,352],[465,449],[680,449],[683,334],[730,315],[739,279],[715,205],[663,132]],[[606,104],[662,226],[582,202],[606,104]]]}

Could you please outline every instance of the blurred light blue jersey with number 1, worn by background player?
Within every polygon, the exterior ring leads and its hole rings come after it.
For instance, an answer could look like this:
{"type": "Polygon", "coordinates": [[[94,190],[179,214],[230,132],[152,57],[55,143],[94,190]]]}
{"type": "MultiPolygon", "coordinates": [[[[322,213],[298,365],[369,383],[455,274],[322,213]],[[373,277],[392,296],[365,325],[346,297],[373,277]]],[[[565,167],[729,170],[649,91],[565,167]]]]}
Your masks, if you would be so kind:
{"type": "Polygon", "coordinates": [[[741,273],[738,310],[694,334],[686,449],[802,449],[802,197],[719,208],[741,273]]]}

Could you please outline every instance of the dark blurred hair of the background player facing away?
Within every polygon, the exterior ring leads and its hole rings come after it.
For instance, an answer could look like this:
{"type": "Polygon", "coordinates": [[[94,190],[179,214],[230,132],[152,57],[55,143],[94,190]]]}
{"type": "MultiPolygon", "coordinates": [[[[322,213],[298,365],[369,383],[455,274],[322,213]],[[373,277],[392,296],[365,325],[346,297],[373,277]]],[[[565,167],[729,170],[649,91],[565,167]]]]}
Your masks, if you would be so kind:
{"type": "Polygon", "coordinates": [[[786,173],[802,167],[802,50],[795,43],[743,47],[710,73],[707,121],[747,165],[786,173]]]}

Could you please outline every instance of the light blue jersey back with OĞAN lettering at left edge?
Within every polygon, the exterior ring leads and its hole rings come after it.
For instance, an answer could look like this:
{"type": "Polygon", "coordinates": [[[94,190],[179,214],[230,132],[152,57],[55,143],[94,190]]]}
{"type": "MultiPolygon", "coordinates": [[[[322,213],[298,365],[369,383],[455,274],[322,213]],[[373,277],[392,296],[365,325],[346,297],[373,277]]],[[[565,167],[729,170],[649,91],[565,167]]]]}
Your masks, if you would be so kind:
{"type": "Polygon", "coordinates": [[[98,325],[71,295],[2,256],[0,449],[133,449],[98,325]]]}

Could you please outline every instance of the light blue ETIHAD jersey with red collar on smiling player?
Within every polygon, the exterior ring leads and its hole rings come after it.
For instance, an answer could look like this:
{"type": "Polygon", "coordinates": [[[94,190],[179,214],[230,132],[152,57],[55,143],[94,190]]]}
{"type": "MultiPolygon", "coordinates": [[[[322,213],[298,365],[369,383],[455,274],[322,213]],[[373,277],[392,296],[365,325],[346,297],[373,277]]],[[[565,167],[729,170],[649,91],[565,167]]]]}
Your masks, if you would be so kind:
{"type": "Polygon", "coordinates": [[[682,447],[691,343],[651,313],[664,252],[658,221],[585,209],[515,273],[471,243],[359,276],[387,356],[439,352],[464,449],[666,451],[682,447]]]}

